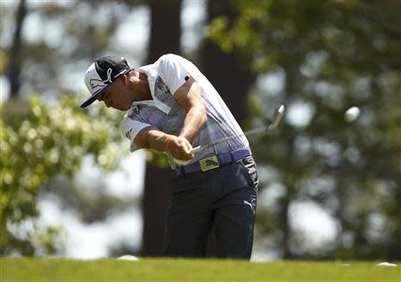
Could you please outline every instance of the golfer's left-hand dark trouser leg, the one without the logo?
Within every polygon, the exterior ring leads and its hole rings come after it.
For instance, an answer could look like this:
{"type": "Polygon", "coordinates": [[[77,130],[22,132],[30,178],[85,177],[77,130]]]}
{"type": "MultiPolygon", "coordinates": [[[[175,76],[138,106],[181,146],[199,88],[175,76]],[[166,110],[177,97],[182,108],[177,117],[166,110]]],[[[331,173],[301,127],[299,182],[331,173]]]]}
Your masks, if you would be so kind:
{"type": "Polygon", "coordinates": [[[165,254],[204,257],[212,226],[207,181],[200,173],[175,178],[166,217],[165,254]]]}

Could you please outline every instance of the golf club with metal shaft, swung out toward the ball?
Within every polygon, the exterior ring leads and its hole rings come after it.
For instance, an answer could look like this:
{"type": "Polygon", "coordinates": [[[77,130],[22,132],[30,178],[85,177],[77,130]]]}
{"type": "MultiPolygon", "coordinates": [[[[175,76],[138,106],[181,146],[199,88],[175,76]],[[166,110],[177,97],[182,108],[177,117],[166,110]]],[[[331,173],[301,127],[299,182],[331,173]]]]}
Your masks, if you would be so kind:
{"type": "MultiPolygon", "coordinates": [[[[224,138],[218,139],[217,141],[215,141],[213,143],[209,143],[208,145],[199,145],[197,147],[192,148],[191,153],[196,155],[214,145],[221,144],[223,142],[232,140],[234,138],[243,137],[243,136],[249,137],[250,135],[260,134],[260,133],[264,133],[264,132],[268,132],[270,130],[276,129],[278,127],[278,125],[280,124],[280,121],[282,120],[283,115],[284,115],[284,105],[280,105],[279,107],[277,107],[274,110],[272,121],[268,126],[258,128],[258,129],[250,129],[248,131],[245,131],[242,134],[237,134],[237,135],[233,135],[230,137],[224,137],[224,138]]],[[[188,163],[190,161],[174,159],[174,162],[176,162],[177,164],[180,164],[180,165],[185,165],[186,163],[188,163]]]]}

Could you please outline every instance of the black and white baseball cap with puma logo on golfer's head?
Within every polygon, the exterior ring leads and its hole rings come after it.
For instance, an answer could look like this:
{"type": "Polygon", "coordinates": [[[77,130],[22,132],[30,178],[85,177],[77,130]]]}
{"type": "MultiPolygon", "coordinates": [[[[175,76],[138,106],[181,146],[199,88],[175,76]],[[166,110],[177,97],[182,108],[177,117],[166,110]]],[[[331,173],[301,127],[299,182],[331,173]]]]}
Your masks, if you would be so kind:
{"type": "Polygon", "coordinates": [[[131,68],[127,60],[120,56],[103,56],[94,60],[85,73],[85,84],[90,96],[81,104],[81,108],[94,103],[106,87],[128,71],[131,71],[131,68]]]}

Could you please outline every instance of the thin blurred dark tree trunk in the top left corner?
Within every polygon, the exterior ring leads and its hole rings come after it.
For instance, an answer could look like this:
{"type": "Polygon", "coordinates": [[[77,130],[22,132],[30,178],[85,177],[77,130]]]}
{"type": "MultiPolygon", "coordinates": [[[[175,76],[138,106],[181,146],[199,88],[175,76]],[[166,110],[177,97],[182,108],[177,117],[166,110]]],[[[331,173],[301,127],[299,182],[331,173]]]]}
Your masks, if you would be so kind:
{"type": "Polygon", "coordinates": [[[12,38],[12,46],[10,48],[10,58],[7,70],[8,81],[10,82],[11,98],[20,95],[20,69],[21,69],[21,31],[23,22],[27,15],[27,6],[25,0],[20,0],[17,15],[15,17],[15,31],[12,38]]]}

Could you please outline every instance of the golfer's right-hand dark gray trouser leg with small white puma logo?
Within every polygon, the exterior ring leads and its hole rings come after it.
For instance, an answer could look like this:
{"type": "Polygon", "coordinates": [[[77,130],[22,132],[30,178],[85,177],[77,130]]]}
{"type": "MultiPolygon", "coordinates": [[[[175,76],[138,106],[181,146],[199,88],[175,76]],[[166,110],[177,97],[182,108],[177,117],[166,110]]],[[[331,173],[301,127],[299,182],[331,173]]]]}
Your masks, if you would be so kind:
{"type": "Polygon", "coordinates": [[[234,163],[224,195],[214,203],[217,255],[250,259],[257,206],[258,173],[253,159],[234,163]]]}

